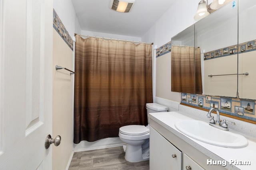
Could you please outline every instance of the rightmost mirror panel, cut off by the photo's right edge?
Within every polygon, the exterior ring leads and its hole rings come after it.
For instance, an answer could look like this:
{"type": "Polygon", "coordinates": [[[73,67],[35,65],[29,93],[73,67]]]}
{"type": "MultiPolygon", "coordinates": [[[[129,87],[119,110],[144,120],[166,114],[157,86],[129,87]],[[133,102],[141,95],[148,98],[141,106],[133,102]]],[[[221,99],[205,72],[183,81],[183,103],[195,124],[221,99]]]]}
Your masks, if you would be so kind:
{"type": "Polygon", "coordinates": [[[256,1],[241,0],[239,4],[238,76],[239,98],[256,100],[256,1]]]}

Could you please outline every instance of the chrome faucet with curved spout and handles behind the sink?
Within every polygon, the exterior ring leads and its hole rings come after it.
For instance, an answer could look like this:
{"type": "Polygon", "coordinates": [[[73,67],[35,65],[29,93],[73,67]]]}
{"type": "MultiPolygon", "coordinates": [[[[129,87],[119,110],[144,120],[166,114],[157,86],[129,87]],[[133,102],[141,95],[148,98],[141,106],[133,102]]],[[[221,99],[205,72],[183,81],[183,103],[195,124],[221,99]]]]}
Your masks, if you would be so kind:
{"type": "Polygon", "coordinates": [[[236,125],[234,122],[226,121],[225,119],[223,120],[223,123],[220,124],[220,111],[217,108],[211,108],[208,111],[207,117],[211,118],[209,125],[216,127],[218,129],[221,129],[223,131],[228,131],[228,125],[226,123],[230,123],[232,125],[236,125]],[[211,115],[212,111],[216,111],[217,113],[217,119],[216,121],[214,120],[214,117],[211,115]]]}

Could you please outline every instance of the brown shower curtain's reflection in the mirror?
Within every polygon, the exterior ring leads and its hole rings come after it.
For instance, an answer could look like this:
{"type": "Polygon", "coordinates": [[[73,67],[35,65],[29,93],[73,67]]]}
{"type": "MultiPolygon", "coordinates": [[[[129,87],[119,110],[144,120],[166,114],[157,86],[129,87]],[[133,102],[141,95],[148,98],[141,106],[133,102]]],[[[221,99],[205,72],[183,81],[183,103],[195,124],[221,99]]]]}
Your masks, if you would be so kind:
{"type": "Polygon", "coordinates": [[[172,46],[172,91],[202,94],[200,48],[172,46]]]}

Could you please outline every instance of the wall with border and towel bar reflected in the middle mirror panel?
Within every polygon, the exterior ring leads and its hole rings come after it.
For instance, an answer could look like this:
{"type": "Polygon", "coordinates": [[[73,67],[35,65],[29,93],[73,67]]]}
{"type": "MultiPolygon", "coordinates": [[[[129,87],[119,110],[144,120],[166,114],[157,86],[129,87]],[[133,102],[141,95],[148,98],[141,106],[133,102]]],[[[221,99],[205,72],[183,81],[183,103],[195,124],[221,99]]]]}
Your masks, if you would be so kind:
{"type": "Polygon", "coordinates": [[[233,6],[230,2],[196,22],[195,45],[200,47],[203,61],[203,94],[236,97],[238,3],[233,6]],[[215,76],[222,74],[234,75],[215,76]]]}

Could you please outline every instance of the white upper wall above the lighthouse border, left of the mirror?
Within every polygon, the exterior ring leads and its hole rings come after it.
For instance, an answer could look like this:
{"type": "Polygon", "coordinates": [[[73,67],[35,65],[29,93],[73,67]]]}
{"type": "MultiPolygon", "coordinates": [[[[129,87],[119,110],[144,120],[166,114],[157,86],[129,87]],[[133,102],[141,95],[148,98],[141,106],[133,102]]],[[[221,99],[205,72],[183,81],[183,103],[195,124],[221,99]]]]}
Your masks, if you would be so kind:
{"type": "Polygon", "coordinates": [[[199,0],[177,0],[162,17],[142,36],[142,41],[160,47],[193,23],[199,0]],[[180,10],[182,6],[183,10],[180,10]]]}

